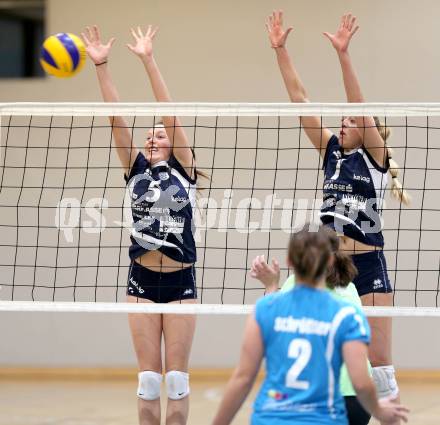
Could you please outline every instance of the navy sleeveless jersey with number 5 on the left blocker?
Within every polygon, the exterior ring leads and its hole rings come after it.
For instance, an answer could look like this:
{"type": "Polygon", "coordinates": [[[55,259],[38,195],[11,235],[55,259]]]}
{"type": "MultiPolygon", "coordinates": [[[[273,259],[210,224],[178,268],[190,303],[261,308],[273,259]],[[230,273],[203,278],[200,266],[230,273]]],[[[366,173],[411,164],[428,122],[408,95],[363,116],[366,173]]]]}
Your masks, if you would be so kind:
{"type": "Polygon", "coordinates": [[[175,261],[195,263],[196,180],[174,156],[150,165],[141,152],[124,177],[133,217],[130,258],[157,249],[175,261]]]}

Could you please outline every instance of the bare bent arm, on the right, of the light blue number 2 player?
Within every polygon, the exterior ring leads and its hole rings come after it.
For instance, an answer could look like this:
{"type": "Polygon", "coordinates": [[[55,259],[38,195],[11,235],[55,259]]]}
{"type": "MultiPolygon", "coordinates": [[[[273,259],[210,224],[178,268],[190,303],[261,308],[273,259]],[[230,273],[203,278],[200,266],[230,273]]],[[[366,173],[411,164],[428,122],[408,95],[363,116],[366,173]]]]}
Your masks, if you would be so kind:
{"type": "Polygon", "coordinates": [[[368,373],[367,346],[361,341],[349,341],[342,348],[353,388],[362,406],[381,423],[407,422],[408,409],[391,399],[377,399],[376,388],[368,373]]]}

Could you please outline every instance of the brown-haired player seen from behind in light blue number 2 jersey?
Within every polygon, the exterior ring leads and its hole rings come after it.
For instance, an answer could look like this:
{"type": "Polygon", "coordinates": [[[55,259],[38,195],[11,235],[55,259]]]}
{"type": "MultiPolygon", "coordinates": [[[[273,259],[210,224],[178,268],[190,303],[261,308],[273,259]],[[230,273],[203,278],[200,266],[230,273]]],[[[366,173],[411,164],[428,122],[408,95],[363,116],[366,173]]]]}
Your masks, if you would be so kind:
{"type": "Polygon", "coordinates": [[[407,409],[380,402],[367,367],[368,322],[355,306],[325,290],[334,261],[330,229],[291,237],[288,261],[297,285],[257,302],[248,319],[241,358],[214,425],[231,423],[247,397],[263,358],[266,378],[254,404],[253,425],[346,425],[339,373],[345,361],[358,398],[383,422],[407,420],[407,409]]]}

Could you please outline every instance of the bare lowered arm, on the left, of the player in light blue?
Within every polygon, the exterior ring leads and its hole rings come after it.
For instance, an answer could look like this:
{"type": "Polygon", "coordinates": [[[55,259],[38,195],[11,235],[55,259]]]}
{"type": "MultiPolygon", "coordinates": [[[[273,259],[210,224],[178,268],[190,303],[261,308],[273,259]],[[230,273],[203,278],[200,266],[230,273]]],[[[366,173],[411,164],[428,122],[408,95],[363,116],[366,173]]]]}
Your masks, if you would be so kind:
{"type": "Polygon", "coordinates": [[[263,340],[254,314],[250,315],[244,331],[240,363],[226,387],[212,425],[228,425],[246,400],[263,359],[263,340]]]}

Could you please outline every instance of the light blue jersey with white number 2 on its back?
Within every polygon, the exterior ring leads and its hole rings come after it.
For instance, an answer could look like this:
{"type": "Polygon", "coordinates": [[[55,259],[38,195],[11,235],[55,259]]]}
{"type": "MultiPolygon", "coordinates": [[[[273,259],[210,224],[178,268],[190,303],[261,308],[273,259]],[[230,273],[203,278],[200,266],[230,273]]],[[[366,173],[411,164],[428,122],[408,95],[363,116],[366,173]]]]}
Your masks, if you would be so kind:
{"type": "Polygon", "coordinates": [[[339,391],[347,341],[370,341],[368,322],[352,304],[326,290],[297,285],[257,302],[266,378],[252,425],[345,425],[339,391]],[[294,422],[292,422],[294,421],[294,422]]]}

